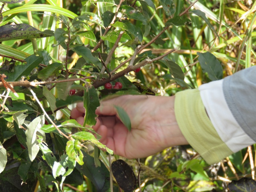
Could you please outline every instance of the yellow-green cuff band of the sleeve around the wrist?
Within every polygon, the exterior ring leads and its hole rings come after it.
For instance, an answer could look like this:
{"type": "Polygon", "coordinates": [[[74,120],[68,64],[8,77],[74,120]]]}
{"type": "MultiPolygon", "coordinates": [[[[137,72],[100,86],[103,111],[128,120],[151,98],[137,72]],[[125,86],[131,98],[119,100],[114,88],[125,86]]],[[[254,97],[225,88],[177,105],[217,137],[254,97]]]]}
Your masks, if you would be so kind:
{"type": "Polygon", "coordinates": [[[176,93],[174,110],[182,134],[208,164],[217,163],[233,153],[214,129],[198,89],[176,93]]]}

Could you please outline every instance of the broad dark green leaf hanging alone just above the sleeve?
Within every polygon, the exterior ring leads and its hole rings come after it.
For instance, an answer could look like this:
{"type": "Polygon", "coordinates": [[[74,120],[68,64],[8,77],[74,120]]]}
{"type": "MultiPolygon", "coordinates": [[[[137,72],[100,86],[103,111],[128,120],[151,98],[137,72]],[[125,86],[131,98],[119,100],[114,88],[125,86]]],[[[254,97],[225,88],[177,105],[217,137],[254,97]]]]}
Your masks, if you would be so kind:
{"type": "Polygon", "coordinates": [[[197,52],[198,61],[204,73],[208,73],[212,81],[222,79],[223,72],[220,61],[210,52],[200,53],[197,52]]]}

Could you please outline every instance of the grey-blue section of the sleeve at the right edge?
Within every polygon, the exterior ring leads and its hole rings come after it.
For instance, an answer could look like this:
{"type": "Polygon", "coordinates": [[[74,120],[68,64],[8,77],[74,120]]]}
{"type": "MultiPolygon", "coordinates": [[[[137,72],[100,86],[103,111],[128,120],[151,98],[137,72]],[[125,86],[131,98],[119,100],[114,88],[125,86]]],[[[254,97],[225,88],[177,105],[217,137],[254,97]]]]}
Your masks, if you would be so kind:
{"type": "Polygon", "coordinates": [[[223,92],[237,123],[256,142],[256,66],[226,77],[223,92]]]}

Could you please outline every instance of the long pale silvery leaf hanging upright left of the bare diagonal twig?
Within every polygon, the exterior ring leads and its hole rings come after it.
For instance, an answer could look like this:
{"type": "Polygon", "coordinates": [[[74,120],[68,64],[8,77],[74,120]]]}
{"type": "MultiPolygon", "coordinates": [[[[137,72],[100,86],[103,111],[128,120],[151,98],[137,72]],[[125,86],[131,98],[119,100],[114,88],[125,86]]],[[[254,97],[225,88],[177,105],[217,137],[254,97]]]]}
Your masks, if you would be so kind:
{"type": "Polygon", "coordinates": [[[39,151],[39,142],[37,141],[36,134],[43,125],[44,116],[38,116],[28,125],[28,128],[25,132],[27,136],[26,144],[28,146],[28,156],[31,161],[36,158],[36,155],[39,151]]]}

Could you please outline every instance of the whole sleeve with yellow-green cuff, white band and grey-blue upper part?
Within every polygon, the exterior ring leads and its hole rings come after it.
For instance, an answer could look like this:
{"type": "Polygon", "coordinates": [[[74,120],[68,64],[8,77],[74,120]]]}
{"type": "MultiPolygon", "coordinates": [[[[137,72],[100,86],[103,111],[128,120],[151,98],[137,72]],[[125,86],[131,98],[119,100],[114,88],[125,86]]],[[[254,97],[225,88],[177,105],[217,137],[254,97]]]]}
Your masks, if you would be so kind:
{"type": "Polygon", "coordinates": [[[255,143],[255,74],[256,66],[176,94],[180,130],[207,163],[217,163],[255,143]]]}

